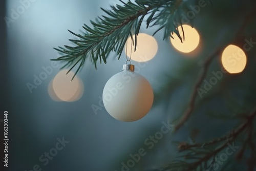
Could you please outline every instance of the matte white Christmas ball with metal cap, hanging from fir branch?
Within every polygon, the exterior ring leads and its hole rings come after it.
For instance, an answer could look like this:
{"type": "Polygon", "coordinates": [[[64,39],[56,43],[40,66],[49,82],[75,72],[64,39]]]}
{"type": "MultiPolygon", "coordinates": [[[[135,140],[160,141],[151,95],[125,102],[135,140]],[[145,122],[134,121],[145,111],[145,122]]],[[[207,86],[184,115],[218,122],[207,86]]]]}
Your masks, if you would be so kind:
{"type": "Polygon", "coordinates": [[[112,117],[131,122],[150,111],[154,94],[150,83],[134,72],[134,65],[123,65],[123,71],[106,82],[102,98],[106,111],[112,117]]]}

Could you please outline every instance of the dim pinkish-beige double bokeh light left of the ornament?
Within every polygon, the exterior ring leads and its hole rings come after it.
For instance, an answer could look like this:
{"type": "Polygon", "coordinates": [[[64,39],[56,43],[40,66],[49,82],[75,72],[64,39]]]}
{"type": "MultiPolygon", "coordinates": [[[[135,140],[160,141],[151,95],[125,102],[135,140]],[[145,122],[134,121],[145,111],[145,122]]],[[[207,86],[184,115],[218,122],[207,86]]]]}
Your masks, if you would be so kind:
{"type": "Polygon", "coordinates": [[[83,94],[82,81],[77,76],[71,81],[74,73],[67,72],[68,70],[60,71],[49,84],[49,95],[55,101],[72,102],[80,99],[83,94]]]}

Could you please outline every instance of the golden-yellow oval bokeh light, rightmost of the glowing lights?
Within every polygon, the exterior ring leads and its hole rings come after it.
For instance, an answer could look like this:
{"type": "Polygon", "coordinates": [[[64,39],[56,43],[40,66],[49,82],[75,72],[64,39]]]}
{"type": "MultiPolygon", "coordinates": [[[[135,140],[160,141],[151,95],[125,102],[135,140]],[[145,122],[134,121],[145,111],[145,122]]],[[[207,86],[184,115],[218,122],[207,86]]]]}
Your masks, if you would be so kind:
{"type": "Polygon", "coordinates": [[[242,72],[245,69],[246,61],[244,51],[235,45],[227,46],[221,56],[223,67],[231,74],[242,72]]]}

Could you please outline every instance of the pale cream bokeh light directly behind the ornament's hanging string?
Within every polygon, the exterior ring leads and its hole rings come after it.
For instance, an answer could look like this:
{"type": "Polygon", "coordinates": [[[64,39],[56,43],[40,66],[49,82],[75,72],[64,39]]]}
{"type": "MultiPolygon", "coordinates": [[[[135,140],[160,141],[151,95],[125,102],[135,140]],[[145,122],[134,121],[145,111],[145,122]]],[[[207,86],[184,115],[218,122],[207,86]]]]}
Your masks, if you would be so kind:
{"type": "MultiPolygon", "coordinates": [[[[151,60],[155,57],[158,50],[158,45],[156,39],[148,34],[145,33],[139,33],[137,35],[137,46],[136,46],[136,52],[134,52],[134,46],[135,46],[135,36],[133,36],[134,39],[134,45],[132,47],[132,60],[135,60],[137,62],[144,62],[151,60]]],[[[125,53],[127,56],[130,57],[131,55],[131,46],[132,46],[132,38],[129,37],[125,44],[125,53]],[[126,44],[127,44],[127,51],[126,52],[126,44]]]]}

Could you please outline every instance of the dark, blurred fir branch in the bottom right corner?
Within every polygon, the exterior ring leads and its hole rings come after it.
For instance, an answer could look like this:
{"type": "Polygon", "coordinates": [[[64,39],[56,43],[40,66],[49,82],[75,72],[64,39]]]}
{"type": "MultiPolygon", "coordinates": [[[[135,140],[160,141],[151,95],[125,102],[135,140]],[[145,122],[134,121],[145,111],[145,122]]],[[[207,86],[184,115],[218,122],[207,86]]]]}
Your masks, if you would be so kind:
{"type": "MultiPolygon", "coordinates": [[[[182,154],[176,160],[170,162],[166,167],[164,167],[161,170],[193,171],[193,170],[208,169],[212,164],[214,164],[216,156],[218,156],[218,154],[222,152],[222,150],[226,148],[228,144],[234,142],[238,136],[243,135],[242,133],[246,130],[249,130],[249,136],[248,136],[249,141],[247,141],[247,143],[248,143],[248,146],[252,149],[251,156],[249,159],[249,161],[251,161],[251,159],[254,159],[254,155],[255,155],[253,152],[253,149],[255,147],[254,147],[254,143],[252,143],[253,123],[255,122],[255,118],[256,118],[256,110],[254,110],[250,115],[248,115],[246,118],[246,121],[242,123],[236,130],[233,130],[230,134],[223,136],[221,138],[218,138],[216,140],[212,140],[203,144],[182,143],[182,145],[179,146],[182,154]],[[217,148],[215,148],[214,150],[212,150],[212,147],[217,146],[218,143],[220,142],[223,142],[223,143],[217,148]],[[214,159],[214,160],[212,161],[212,163],[208,165],[207,162],[210,159],[214,159]]],[[[253,169],[254,163],[250,162],[248,167],[253,169]]]]}

